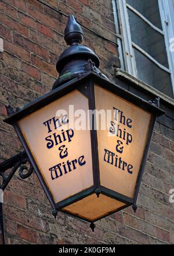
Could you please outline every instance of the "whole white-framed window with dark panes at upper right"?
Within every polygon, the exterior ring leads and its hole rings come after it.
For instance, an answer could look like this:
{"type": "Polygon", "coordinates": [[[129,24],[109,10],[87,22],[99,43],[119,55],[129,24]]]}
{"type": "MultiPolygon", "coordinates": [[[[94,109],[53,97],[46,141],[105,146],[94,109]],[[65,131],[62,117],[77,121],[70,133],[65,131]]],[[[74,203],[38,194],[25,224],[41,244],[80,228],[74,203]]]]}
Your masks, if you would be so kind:
{"type": "Polygon", "coordinates": [[[113,10],[121,68],[173,98],[174,0],[113,0],[113,10]]]}

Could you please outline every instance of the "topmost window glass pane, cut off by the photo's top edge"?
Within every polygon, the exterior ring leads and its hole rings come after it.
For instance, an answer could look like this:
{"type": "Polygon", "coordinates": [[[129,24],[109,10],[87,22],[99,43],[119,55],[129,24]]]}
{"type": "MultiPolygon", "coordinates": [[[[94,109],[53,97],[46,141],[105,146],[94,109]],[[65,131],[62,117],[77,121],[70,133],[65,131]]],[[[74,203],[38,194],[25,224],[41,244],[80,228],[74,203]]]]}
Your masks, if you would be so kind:
{"type": "MultiPolygon", "coordinates": [[[[129,5],[140,12],[146,19],[162,30],[158,0],[126,0],[129,5]]],[[[166,1],[166,0],[165,0],[166,1]]]]}

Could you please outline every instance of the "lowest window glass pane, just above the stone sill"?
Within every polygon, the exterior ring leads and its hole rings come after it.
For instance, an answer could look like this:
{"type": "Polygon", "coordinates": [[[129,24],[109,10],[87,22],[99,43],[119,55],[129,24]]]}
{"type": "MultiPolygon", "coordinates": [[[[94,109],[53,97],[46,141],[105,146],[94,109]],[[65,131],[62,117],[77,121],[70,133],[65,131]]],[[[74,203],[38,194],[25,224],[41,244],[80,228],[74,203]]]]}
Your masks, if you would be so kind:
{"type": "Polygon", "coordinates": [[[138,78],[173,98],[171,75],[134,49],[138,78]]]}

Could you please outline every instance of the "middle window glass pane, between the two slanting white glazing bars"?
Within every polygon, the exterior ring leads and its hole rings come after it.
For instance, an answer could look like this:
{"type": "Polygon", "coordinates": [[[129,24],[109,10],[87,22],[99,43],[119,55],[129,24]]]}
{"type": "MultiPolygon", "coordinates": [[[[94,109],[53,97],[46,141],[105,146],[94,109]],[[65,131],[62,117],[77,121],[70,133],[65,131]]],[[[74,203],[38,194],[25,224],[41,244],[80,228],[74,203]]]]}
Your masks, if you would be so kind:
{"type": "Polygon", "coordinates": [[[168,67],[164,36],[128,9],[132,41],[159,63],[168,67]]]}

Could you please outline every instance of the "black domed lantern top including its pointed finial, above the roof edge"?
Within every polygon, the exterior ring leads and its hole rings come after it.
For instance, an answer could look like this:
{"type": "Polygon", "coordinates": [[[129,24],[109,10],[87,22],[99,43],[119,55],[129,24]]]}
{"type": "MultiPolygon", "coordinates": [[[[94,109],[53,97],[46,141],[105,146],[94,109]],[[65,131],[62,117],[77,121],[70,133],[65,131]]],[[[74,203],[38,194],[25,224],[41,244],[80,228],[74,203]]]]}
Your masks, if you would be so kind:
{"type": "Polygon", "coordinates": [[[99,57],[92,51],[92,49],[85,45],[81,45],[81,42],[84,39],[84,34],[81,26],[74,19],[73,15],[68,17],[68,22],[64,30],[64,39],[67,42],[67,45],[70,46],[61,53],[57,60],[56,69],[59,73],[59,78],[57,78],[53,84],[53,89],[64,82],[77,77],[79,74],[85,74],[85,63],[87,63],[88,60],[91,60],[91,62],[94,63],[95,72],[98,74],[100,73],[98,70],[98,67],[100,66],[99,57]]]}

